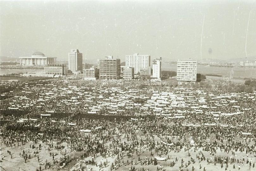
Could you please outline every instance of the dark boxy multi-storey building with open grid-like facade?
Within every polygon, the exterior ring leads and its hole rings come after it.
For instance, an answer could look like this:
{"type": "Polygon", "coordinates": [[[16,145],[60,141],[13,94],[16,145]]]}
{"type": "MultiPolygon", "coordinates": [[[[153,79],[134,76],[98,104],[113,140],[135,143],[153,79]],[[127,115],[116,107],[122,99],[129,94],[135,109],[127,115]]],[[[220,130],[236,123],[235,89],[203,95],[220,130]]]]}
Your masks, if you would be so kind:
{"type": "Polygon", "coordinates": [[[113,56],[106,56],[98,59],[99,78],[101,80],[118,80],[120,78],[120,59],[113,59],[113,56]]]}

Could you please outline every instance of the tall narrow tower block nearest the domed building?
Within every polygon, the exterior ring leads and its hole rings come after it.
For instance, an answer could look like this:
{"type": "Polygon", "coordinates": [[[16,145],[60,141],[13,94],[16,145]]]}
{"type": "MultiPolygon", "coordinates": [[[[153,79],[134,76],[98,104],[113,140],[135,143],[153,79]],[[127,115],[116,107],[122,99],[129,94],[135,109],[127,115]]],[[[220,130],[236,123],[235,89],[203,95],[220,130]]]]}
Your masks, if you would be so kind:
{"type": "Polygon", "coordinates": [[[78,49],[71,49],[71,53],[68,53],[68,69],[72,72],[83,71],[83,53],[78,49]]]}

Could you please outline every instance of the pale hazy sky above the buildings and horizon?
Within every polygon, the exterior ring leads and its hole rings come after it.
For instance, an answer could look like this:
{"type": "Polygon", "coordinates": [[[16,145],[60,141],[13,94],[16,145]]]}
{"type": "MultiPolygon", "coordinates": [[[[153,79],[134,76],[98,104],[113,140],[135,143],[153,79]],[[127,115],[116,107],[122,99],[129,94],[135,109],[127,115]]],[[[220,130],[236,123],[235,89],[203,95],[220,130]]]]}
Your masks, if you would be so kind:
{"type": "Polygon", "coordinates": [[[200,60],[203,25],[202,58],[245,58],[246,35],[256,55],[255,0],[1,1],[0,11],[1,56],[67,61],[76,48],[87,63],[133,53],[200,60]]]}

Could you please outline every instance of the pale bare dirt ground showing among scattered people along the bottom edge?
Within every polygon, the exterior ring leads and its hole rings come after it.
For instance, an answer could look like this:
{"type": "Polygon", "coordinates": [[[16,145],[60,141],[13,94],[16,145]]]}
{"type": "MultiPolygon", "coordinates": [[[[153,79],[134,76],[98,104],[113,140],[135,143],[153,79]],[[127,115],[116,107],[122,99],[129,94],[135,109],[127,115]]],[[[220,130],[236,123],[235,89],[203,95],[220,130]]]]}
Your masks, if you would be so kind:
{"type": "MultiPolygon", "coordinates": [[[[155,140],[158,140],[159,138],[155,137],[155,140]]],[[[122,141],[126,141],[127,139],[122,138],[122,141]]],[[[1,141],[2,142],[2,141],[1,141]]],[[[109,142],[110,143],[110,142],[109,142]]],[[[108,143],[108,144],[109,144],[108,143]]],[[[65,150],[66,150],[66,155],[69,155],[70,158],[72,158],[72,161],[70,163],[67,164],[67,166],[65,166],[64,168],[61,168],[59,170],[76,170],[80,168],[80,155],[83,153],[83,151],[77,152],[77,151],[70,151],[70,148],[68,148],[67,144],[62,144],[65,146],[64,149],[60,150],[56,150],[54,148],[51,148],[50,151],[48,151],[48,145],[42,143],[42,142],[38,142],[36,145],[36,147],[39,147],[39,144],[42,145],[41,150],[38,150],[38,154],[36,154],[36,157],[34,157],[34,151],[37,151],[37,149],[32,149],[29,147],[29,144],[33,144],[33,142],[28,142],[25,145],[20,145],[21,143],[19,143],[19,146],[16,147],[6,147],[3,143],[1,143],[1,169],[3,171],[16,171],[16,170],[24,170],[24,171],[35,171],[36,168],[39,169],[39,167],[41,166],[41,170],[58,170],[59,168],[59,163],[53,165],[53,158],[52,156],[50,156],[50,152],[56,153],[56,156],[54,156],[55,161],[58,161],[60,159],[60,157],[64,156],[65,150]],[[25,154],[30,154],[31,155],[31,159],[28,159],[25,163],[25,160],[19,156],[19,153],[22,154],[22,150],[24,149],[25,154]],[[7,150],[9,150],[11,152],[12,155],[12,159],[11,156],[7,153],[7,150]],[[61,153],[61,154],[60,154],[61,153]],[[4,156],[3,156],[4,155],[4,156]],[[38,158],[37,156],[39,156],[39,162],[38,162],[38,158]],[[2,160],[3,158],[3,160],[2,160]],[[45,169],[45,162],[50,162],[51,163],[51,168],[46,168],[45,169]],[[40,165],[41,163],[41,165],[40,165]]],[[[53,145],[56,145],[56,142],[53,142],[53,145]]],[[[190,149],[190,154],[191,156],[188,156],[188,151],[184,151],[184,148],[180,151],[180,152],[174,152],[174,151],[170,151],[167,155],[162,155],[162,157],[168,157],[169,159],[167,159],[166,161],[158,161],[158,164],[153,166],[152,163],[149,165],[141,165],[141,163],[138,162],[138,159],[140,157],[140,159],[146,159],[147,157],[149,159],[151,159],[150,156],[150,151],[146,150],[146,149],[142,149],[142,153],[139,155],[136,155],[135,153],[133,154],[132,158],[128,158],[127,156],[124,156],[123,158],[120,159],[120,162],[116,165],[116,170],[129,170],[129,168],[131,168],[131,166],[133,166],[135,168],[135,170],[142,170],[144,168],[144,170],[157,170],[157,168],[161,168],[161,170],[170,170],[170,171],[178,171],[179,170],[179,166],[181,165],[181,159],[183,158],[184,160],[184,167],[183,170],[192,170],[192,166],[194,166],[195,171],[197,170],[203,170],[203,168],[205,167],[207,171],[215,171],[215,170],[225,170],[225,164],[223,164],[223,168],[221,168],[221,164],[217,163],[216,165],[214,165],[213,163],[208,163],[206,160],[202,161],[199,163],[199,160],[196,158],[196,154],[198,154],[198,151],[202,151],[202,148],[198,149],[196,152],[194,152],[193,148],[190,149]],[[178,162],[175,162],[175,165],[173,167],[170,166],[170,163],[172,161],[175,161],[175,159],[178,159],[178,162]],[[190,160],[190,157],[192,157],[193,159],[195,159],[195,163],[191,163],[187,168],[185,168],[185,163],[187,163],[190,160]],[[124,161],[125,163],[128,160],[128,165],[123,166],[122,161],[124,161]],[[131,165],[131,160],[133,160],[133,165],[131,165]],[[135,161],[137,162],[135,164],[135,161]],[[202,166],[201,169],[199,169],[199,166],[202,166]]],[[[154,156],[157,156],[157,153],[155,151],[152,151],[154,156]]],[[[205,158],[209,158],[210,159],[210,153],[209,152],[203,152],[205,158]]],[[[227,154],[225,152],[221,152],[219,149],[217,150],[217,155],[226,155],[226,156],[231,156],[231,153],[227,154]]],[[[246,164],[246,160],[249,159],[249,161],[252,159],[252,163],[256,162],[256,159],[253,157],[252,154],[248,154],[248,157],[246,156],[245,152],[240,153],[240,152],[235,152],[235,157],[239,158],[239,159],[243,159],[243,157],[245,158],[245,162],[243,163],[243,166],[241,163],[240,167],[241,167],[241,171],[255,171],[256,167],[251,167],[249,168],[249,164],[246,164]]],[[[212,158],[214,159],[214,156],[212,156],[212,158]]],[[[91,156],[85,158],[84,160],[91,160],[91,156]]],[[[102,156],[100,156],[99,154],[96,156],[96,158],[94,159],[95,162],[97,162],[97,166],[96,165],[87,165],[85,166],[85,164],[83,164],[83,166],[86,167],[85,170],[100,170],[99,168],[99,163],[100,162],[106,162],[107,166],[103,168],[101,168],[101,170],[107,171],[110,170],[110,166],[112,163],[115,162],[115,160],[117,159],[117,156],[110,156],[107,158],[103,158],[102,156]]],[[[232,164],[229,163],[228,165],[228,170],[238,170],[238,166],[239,164],[237,162],[234,162],[232,164]],[[235,169],[233,169],[233,164],[235,164],[235,169]]]]}

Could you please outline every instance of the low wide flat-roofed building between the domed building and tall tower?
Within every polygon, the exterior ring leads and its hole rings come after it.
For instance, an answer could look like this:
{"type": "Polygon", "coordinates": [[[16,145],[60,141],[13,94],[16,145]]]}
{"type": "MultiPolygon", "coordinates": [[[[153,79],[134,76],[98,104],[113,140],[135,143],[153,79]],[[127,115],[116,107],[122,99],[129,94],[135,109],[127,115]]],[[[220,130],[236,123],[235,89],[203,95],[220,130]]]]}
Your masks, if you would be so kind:
{"type": "Polygon", "coordinates": [[[48,65],[45,65],[44,66],[44,73],[45,74],[66,76],[67,75],[66,65],[64,65],[64,64],[48,64],[48,65]]]}

